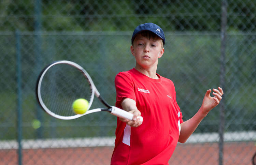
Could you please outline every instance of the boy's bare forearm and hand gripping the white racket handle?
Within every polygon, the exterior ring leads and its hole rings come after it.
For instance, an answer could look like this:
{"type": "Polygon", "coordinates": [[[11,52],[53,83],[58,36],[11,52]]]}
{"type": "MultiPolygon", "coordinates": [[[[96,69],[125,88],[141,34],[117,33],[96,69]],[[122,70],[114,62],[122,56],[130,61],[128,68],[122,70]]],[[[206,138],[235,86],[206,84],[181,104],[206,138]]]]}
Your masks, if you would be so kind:
{"type": "Polygon", "coordinates": [[[125,98],[121,102],[123,110],[126,110],[133,114],[133,120],[129,121],[128,119],[119,118],[121,121],[126,122],[127,125],[132,127],[138,127],[141,125],[140,119],[137,117],[141,116],[141,112],[136,107],[136,102],[133,99],[125,98]]]}

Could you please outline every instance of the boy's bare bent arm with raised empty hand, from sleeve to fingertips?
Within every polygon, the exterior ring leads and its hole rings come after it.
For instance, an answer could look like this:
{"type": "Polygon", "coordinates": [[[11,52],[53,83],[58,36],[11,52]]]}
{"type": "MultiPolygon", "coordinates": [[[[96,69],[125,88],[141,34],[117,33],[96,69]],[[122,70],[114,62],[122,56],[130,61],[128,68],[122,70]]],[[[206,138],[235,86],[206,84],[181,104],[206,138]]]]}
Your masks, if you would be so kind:
{"type": "Polygon", "coordinates": [[[188,137],[196,130],[199,123],[208,114],[210,110],[216,107],[222,99],[223,90],[221,87],[213,89],[214,97],[210,96],[211,89],[207,90],[204,95],[203,103],[197,113],[189,120],[181,123],[181,133],[179,136],[179,142],[184,143],[188,137]]]}

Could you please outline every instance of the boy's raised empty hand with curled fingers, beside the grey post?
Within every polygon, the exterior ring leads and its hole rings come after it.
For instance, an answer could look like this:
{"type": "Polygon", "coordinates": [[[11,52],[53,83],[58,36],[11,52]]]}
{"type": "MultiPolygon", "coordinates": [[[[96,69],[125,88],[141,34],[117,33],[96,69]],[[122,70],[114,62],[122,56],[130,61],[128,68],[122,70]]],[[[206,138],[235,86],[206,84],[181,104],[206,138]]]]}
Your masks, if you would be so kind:
{"type": "Polygon", "coordinates": [[[218,89],[213,89],[212,94],[214,95],[214,97],[210,96],[211,91],[211,89],[206,91],[203,98],[203,103],[200,108],[204,115],[207,115],[210,110],[212,110],[219,104],[222,99],[222,95],[224,94],[221,87],[218,87],[218,89]]]}

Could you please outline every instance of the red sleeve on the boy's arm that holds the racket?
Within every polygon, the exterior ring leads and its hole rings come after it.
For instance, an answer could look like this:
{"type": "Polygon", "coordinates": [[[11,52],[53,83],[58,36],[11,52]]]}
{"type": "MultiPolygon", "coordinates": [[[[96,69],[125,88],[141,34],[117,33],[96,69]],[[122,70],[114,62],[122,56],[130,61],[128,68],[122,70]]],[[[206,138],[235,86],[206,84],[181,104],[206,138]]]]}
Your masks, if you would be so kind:
{"type": "Polygon", "coordinates": [[[120,107],[123,98],[130,98],[136,101],[134,84],[131,75],[127,72],[120,72],[115,77],[116,106],[120,107]]]}

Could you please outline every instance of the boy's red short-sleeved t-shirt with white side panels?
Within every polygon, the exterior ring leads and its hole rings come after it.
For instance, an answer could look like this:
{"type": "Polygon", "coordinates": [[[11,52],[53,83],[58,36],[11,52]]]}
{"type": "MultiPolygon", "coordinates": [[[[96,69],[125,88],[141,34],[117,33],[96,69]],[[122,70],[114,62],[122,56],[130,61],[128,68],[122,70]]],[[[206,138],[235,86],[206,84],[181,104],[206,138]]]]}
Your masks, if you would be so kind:
{"type": "Polygon", "coordinates": [[[173,82],[158,76],[152,79],[134,68],[116,75],[116,106],[122,108],[123,98],[135,100],[143,123],[130,127],[117,119],[111,164],[168,164],[183,120],[173,82]]]}

